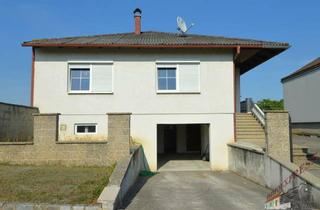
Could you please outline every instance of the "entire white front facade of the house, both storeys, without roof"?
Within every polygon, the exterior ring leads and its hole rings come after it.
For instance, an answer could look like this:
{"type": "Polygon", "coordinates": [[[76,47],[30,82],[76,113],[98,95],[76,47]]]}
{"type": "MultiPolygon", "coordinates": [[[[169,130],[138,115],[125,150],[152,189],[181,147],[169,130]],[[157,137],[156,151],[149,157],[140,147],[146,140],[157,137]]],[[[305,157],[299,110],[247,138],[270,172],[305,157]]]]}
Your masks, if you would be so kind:
{"type": "Polygon", "coordinates": [[[157,124],[208,124],[211,167],[228,167],[227,143],[234,141],[233,116],[239,95],[231,49],[40,48],[36,49],[34,80],[34,106],[42,113],[61,113],[62,140],[81,139],[74,135],[76,123],[97,124],[96,134],[90,136],[104,139],[106,113],[131,112],[131,136],[142,143],[150,168],[157,170],[157,124]],[[112,65],[111,91],[72,93],[69,66],[75,63],[112,65]],[[199,65],[198,83],[184,86],[192,91],[157,90],[157,65],[188,63],[199,65]],[[193,91],[196,85],[198,90],[193,91]]]}

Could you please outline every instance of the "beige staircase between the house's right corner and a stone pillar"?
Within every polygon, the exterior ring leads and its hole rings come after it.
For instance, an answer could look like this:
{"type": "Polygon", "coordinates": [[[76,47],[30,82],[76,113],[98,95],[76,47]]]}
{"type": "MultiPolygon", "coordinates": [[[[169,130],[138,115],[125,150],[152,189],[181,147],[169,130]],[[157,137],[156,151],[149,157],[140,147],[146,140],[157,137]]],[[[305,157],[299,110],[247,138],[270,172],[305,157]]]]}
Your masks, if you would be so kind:
{"type": "Polygon", "coordinates": [[[251,113],[236,114],[236,139],[265,148],[264,129],[251,113]]]}

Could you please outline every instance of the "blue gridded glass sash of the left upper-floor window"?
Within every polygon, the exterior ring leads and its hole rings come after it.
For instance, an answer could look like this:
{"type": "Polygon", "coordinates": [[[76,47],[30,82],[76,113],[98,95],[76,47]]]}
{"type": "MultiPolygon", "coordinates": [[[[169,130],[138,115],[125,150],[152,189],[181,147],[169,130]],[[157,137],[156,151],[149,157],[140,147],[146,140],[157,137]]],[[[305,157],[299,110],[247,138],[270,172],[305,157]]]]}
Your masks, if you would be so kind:
{"type": "Polygon", "coordinates": [[[70,78],[72,91],[90,90],[90,69],[71,68],[70,78]]]}

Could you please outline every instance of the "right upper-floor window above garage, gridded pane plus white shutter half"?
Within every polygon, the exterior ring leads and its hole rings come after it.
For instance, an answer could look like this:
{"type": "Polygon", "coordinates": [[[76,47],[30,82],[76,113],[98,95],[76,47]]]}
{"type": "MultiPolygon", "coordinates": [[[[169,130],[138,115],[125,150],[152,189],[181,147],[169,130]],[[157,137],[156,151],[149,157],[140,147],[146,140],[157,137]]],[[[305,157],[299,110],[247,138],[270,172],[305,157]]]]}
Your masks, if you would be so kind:
{"type": "Polygon", "coordinates": [[[199,93],[199,63],[158,64],[157,92],[199,93]]]}

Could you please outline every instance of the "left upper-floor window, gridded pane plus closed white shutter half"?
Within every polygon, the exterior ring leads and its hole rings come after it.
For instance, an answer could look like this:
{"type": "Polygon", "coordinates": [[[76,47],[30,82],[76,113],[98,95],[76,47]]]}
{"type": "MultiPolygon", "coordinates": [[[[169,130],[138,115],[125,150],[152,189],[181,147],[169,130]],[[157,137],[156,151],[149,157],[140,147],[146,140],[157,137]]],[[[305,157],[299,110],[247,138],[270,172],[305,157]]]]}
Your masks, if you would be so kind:
{"type": "Polygon", "coordinates": [[[112,63],[69,63],[69,93],[112,93],[112,63]]]}

